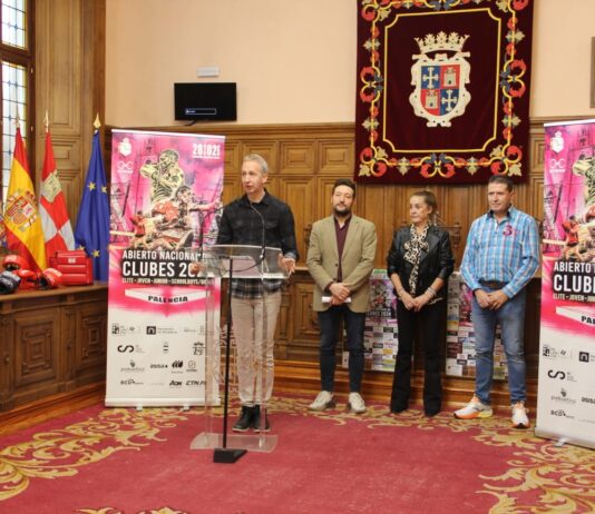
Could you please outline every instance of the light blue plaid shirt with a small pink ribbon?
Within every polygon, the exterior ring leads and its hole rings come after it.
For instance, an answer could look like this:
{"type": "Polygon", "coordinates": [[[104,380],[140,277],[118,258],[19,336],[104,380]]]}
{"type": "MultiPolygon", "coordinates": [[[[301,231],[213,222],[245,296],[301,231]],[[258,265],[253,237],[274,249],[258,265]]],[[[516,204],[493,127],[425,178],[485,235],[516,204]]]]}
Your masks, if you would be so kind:
{"type": "Polygon", "coordinates": [[[539,265],[537,225],[531,216],[510,206],[498,221],[488,211],[471,224],[460,271],[471,290],[482,280],[505,283],[509,298],[530,280],[539,265]]]}

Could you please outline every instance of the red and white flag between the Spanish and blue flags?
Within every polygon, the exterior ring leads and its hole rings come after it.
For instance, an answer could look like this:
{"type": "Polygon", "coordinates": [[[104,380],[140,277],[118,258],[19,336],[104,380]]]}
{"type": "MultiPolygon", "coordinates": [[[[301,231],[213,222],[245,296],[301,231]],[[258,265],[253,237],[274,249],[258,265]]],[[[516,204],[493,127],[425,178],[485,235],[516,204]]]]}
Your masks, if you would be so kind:
{"type": "Polygon", "coordinates": [[[75,249],[75,236],[56,169],[49,131],[46,132],[46,157],[41,174],[39,214],[46,236],[46,255],[50,257],[56,251],[75,249]]]}

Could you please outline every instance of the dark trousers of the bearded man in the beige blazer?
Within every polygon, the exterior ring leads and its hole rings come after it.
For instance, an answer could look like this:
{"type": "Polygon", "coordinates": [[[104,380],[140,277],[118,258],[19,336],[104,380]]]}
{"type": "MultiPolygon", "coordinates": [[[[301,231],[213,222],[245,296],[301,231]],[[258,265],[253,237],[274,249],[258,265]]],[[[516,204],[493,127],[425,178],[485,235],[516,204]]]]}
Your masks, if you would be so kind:
{"type": "Polygon", "coordinates": [[[364,313],[352,313],[349,307],[335,305],[319,312],[320,323],[320,379],[322,391],[333,392],[336,359],[334,350],[339,337],[340,322],[343,319],[349,349],[349,391],[359,393],[363,375],[363,329],[364,313]]]}

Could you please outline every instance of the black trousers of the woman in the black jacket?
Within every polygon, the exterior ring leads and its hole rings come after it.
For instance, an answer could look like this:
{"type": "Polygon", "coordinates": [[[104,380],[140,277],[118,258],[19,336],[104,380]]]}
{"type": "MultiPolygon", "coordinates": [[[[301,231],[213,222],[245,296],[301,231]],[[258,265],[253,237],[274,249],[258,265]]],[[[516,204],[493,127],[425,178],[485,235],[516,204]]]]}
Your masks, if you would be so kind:
{"type": "Polygon", "coordinates": [[[442,386],[440,380],[440,327],[443,324],[445,300],[426,305],[419,313],[407,310],[402,302],[397,303],[399,327],[399,352],[392,380],[390,409],[404,411],[411,393],[411,359],[413,340],[421,327],[423,344],[423,411],[437,414],[441,409],[442,386]]]}

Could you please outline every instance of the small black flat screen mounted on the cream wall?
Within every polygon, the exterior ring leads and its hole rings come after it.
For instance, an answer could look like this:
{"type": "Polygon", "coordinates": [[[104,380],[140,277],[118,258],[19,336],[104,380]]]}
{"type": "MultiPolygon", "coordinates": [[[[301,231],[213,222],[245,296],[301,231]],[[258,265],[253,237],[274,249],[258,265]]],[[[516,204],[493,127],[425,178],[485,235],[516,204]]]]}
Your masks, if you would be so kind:
{"type": "Polygon", "coordinates": [[[235,121],[235,82],[174,83],[175,119],[235,121]]]}

